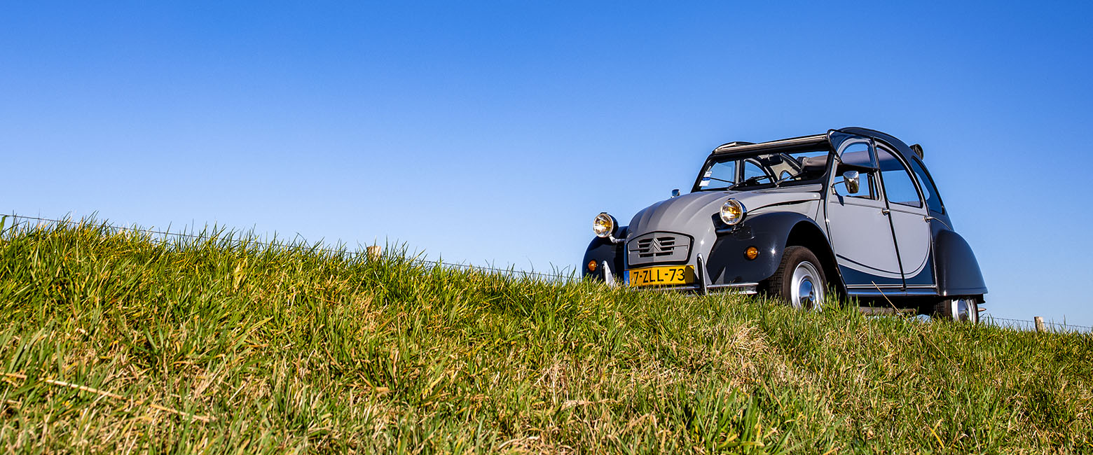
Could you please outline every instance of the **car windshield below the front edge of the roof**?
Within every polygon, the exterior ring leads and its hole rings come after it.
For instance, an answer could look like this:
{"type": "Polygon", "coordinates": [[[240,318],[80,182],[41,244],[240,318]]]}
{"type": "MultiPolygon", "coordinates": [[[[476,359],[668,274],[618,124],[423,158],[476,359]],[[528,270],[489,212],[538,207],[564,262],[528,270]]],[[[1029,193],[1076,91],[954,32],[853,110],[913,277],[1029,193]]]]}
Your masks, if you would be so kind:
{"type": "Polygon", "coordinates": [[[826,149],[756,152],[707,161],[697,191],[812,183],[827,169],[826,149]]]}

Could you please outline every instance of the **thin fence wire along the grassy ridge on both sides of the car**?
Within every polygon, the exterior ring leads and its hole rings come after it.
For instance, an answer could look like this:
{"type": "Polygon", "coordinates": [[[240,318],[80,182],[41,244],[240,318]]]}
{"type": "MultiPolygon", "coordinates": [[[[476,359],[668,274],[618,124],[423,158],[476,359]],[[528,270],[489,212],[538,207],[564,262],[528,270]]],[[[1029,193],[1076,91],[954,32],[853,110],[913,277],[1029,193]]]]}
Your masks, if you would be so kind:
{"type": "MultiPolygon", "coordinates": [[[[166,242],[167,241],[166,238],[169,238],[169,237],[186,238],[186,239],[191,239],[191,240],[225,240],[225,239],[218,239],[215,237],[215,236],[219,236],[219,235],[223,235],[225,232],[225,230],[222,230],[222,229],[221,230],[216,230],[215,227],[213,228],[214,229],[213,230],[213,232],[214,232],[213,236],[202,236],[202,235],[197,235],[197,234],[192,234],[192,232],[177,232],[177,231],[176,232],[172,232],[169,230],[156,230],[156,229],[144,229],[144,228],[137,228],[137,227],[114,226],[114,225],[107,225],[105,223],[102,223],[102,224],[91,224],[89,220],[75,221],[75,220],[72,220],[72,219],[52,219],[52,218],[44,218],[44,217],[38,217],[38,216],[27,216],[27,215],[17,215],[17,214],[3,215],[3,217],[7,218],[7,219],[24,219],[24,220],[27,220],[27,221],[38,221],[39,224],[51,223],[51,224],[56,224],[56,225],[63,224],[63,225],[69,225],[69,226],[79,226],[81,223],[83,223],[83,224],[89,224],[89,225],[92,225],[92,226],[95,226],[95,227],[98,227],[98,228],[105,228],[105,229],[110,229],[110,230],[115,230],[115,231],[127,231],[127,232],[136,232],[136,234],[145,234],[145,235],[162,236],[164,238],[161,239],[160,241],[163,241],[163,242],[166,242]]],[[[16,221],[16,223],[11,224],[10,226],[5,224],[4,230],[2,232],[0,232],[0,235],[7,234],[8,231],[17,228],[21,224],[23,224],[23,223],[16,221]]],[[[230,231],[228,234],[233,235],[233,234],[236,234],[236,232],[235,231],[230,231]]],[[[228,238],[228,240],[230,239],[231,238],[228,238]]],[[[262,242],[262,241],[254,240],[254,239],[250,239],[250,238],[238,239],[238,240],[235,240],[235,241],[237,243],[244,244],[244,246],[258,246],[258,247],[266,247],[266,248],[283,248],[283,247],[291,246],[291,243],[262,242]]],[[[310,248],[310,251],[324,252],[324,253],[328,253],[328,254],[332,254],[332,255],[365,254],[364,251],[360,251],[360,250],[351,251],[351,250],[349,250],[349,249],[346,249],[344,247],[341,247],[341,248],[338,248],[338,249],[319,248],[318,243],[314,244],[310,248]]],[[[569,273],[569,274],[557,274],[557,273],[554,273],[554,274],[549,274],[549,273],[534,272],[534,271],[518,271],[518,270],[515,270],[515,268],[501,268],[501,267],[486,266],[486,265],[461,264],[461,263],[446,262],[446,261],[442,261],[442,260],[432,261],[432,260],[427,260],[427,259],[423,259],[423,258],[413,259],[412,262],[415,263],[415,264],[419,264],[419,265],[423,265],[423,266],[442,266],[442,267],[450,267],[450,268],[458,268],[458,270],[466,270],[466,271],[491,272],[491,273],[497,273],[497,274],[502,274],[502,275],[521,276],[521,277],[526,277],[526,278],[527,277],[533,277],[533,278],[544,279],[544,280],[573,280],[573,279],[578,279],[576,273],[569,273]]],[[[984,315],[983,319],[982,319],[982,322],[984,322],[986,324],[999,326],[999,327],[1006,327],[1006,328],[1015,328],[1015,330],[1022,330],[1022,331],[1035,331],[1036,330],[1036,323],[1035,323],[1035,321],[1026,321],[1026,320],[1016,320],[1016,319],[1008,319],[1008,318],[998,318],[998,316],[992,316],[992,315],[984,315]]],[[[1068,324],[1066,322],[1059,323],[1059,322],[1044,321],[1044,325],[1049,331],[1053,331],[1053,332],[1088,332],[1088,333],[1093,332],[1093,327],[1085,326],[1085,325],[1068,324]]]]}

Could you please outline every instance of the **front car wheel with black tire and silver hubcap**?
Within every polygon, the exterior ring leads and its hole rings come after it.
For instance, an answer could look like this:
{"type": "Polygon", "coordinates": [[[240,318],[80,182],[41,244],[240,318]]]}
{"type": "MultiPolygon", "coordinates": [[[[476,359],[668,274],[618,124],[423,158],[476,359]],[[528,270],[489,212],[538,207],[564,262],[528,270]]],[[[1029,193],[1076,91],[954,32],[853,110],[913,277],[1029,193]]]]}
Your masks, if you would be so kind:
{"type": "Polygon", "coordinates": [[[787,247],[778,270],[767,279],[766,292],[794,308],[822,309],[827,297],[827,278],[822,263],[808,248],[787,247]],[[795,278],[795,273],[803,276],[795,278]]]}

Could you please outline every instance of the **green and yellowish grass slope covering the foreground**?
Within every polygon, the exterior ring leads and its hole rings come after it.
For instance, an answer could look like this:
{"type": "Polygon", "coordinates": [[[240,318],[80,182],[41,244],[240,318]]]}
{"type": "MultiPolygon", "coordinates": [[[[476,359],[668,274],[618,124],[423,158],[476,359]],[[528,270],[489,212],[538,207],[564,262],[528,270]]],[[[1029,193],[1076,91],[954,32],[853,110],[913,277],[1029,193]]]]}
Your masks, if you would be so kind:
{"type": "Polygon", "coordinates": [[[0,448],[1093,451],[1089,334],[207,235],[164,244],[82,224],[2,236],[0,448]]]}

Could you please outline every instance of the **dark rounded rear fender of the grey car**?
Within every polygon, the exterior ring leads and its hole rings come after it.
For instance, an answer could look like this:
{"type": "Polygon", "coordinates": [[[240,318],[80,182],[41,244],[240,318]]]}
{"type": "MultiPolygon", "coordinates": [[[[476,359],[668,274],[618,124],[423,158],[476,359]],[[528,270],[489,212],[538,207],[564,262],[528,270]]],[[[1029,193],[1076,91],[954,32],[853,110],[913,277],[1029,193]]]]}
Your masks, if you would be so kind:
{"type": "Polygon", "coordinates": [[[972,247],[959,234],[939,229],[933,237],[937,258],[938,291],[942,296],[979,296],[987,294],[979,262],[972,247]]]}

